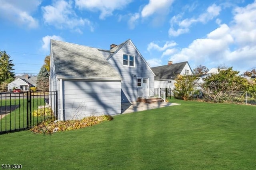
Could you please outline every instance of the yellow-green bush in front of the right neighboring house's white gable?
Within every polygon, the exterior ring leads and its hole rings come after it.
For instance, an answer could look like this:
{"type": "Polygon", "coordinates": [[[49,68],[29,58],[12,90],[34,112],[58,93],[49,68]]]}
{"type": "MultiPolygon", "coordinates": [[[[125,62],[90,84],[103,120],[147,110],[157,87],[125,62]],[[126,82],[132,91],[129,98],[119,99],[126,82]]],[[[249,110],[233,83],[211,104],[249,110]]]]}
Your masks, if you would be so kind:
{"type": "Polygon", "coordinates": [[[174,83],[174,97],[183,100],[191,99],[195,91],[196,79],[195,76],[178,75],[174,83]]]}

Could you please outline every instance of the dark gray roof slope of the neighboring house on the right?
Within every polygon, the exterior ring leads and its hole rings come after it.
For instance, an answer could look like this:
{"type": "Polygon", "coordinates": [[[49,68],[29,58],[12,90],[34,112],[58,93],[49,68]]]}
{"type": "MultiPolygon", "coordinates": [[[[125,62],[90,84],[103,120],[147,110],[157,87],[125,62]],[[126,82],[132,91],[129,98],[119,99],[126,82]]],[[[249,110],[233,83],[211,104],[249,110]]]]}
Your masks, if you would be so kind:
{"type": "Polygon", "coordinates": [[[171,65],[151,67],[151,69],[156,75],[155,80],[174,79],[177,77],[178,74],[181,73],[186,63],[188,63],[188,61],[175,63],[171,65]]]}

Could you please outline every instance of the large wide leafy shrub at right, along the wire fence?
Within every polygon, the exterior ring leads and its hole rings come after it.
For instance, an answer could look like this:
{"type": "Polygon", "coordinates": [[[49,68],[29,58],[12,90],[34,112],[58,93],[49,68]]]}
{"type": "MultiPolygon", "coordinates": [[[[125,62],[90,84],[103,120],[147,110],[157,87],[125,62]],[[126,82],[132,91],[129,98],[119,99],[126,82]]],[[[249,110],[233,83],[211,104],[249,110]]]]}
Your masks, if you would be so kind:
{"type": "Polygon", "coordinates": [[[211,74],[204,78],[202,92],[206,101],[223,102],[230,91],[244,91],[248,89],[248,81],[238,75],[232,67],[219,70],[218,74],[211,74]]]}

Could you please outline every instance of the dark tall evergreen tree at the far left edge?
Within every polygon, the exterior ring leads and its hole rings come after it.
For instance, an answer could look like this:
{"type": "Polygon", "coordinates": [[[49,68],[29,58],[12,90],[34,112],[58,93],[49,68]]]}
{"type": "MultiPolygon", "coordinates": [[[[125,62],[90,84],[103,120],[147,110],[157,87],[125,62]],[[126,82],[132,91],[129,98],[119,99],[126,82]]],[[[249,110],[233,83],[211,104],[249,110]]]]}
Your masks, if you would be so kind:
{"type": "Polygon", "coordinates": [[[12,67],[14,63],[10,60],[10,55],[6,51],[0,51],[0,84],[15,77],[12,67]]]}

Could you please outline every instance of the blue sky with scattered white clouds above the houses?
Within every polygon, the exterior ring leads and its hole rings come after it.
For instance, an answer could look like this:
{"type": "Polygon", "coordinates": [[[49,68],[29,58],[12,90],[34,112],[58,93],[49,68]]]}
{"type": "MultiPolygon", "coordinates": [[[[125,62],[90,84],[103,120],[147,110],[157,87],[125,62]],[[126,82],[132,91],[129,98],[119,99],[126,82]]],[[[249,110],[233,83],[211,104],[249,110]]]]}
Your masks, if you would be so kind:
{"type": "Polygon", "coordinates": [[[256,0],[0,0],[0,50],[38,73],[50,39],[101,49],[129,38],[151,67],[256,67],[256,0]]]}

